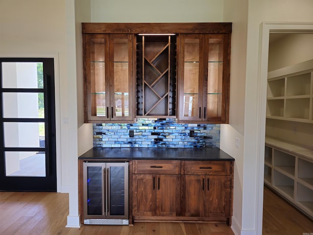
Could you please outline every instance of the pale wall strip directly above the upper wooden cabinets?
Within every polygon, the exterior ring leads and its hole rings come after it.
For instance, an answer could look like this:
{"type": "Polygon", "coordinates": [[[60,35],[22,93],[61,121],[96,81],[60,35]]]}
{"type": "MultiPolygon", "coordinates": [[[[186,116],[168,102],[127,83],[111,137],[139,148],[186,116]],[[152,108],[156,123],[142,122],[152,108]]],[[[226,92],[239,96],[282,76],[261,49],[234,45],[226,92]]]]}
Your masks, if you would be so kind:
{"type": "Polygon", "coordinates": [[[223,22],[223,0],[91,0],[91,22],[223,22]]]}

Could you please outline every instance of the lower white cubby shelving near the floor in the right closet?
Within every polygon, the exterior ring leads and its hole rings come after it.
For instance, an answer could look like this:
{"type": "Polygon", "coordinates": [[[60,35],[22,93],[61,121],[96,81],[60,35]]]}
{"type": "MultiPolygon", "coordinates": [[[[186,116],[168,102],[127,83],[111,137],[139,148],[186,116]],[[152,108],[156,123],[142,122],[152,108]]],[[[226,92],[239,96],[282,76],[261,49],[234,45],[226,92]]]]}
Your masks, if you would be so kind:
{"type": "Polygon", "coordinates": [[[264,183],[313,218],[313,150],[266,137],[264,183]]]}

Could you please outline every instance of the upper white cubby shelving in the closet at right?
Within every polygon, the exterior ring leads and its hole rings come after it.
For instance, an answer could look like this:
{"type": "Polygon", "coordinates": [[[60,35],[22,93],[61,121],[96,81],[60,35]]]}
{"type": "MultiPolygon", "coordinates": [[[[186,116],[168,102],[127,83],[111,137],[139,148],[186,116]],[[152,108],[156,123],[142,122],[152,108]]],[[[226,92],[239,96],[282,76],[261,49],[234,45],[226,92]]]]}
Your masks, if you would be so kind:
{"type": "Polygon", "coordinates": [[[313,123],[313,60],[268,72],[267,118],[313,123]]]}

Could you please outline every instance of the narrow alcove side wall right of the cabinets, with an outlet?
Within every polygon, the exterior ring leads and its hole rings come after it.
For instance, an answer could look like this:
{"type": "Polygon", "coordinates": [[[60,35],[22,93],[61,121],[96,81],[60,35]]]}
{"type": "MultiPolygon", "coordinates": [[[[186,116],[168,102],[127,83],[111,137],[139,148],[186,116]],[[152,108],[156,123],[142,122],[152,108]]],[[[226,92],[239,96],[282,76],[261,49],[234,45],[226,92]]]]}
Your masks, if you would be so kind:
{"type": "Polygon", "coordinates": [[[240,234],[243,216],[246,35],[248,0],[225,0],[224,21],[232,22],[229,124],[221,125],[221,149],[235,158],[232,229],[240,234]],[[239,138],[239,148],[235,147],[239,138]]]}

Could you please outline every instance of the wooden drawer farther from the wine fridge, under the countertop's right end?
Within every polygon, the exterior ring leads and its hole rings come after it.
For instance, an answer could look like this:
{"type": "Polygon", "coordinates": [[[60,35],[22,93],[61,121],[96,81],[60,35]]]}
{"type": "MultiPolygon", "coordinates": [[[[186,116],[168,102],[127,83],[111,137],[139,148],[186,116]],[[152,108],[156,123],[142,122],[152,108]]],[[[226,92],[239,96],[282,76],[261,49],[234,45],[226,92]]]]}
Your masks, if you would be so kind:
{"type": "Polygon", "coordinates": [[[230,175],[228,161],[182,161],[181,174],[230,175]]]}

